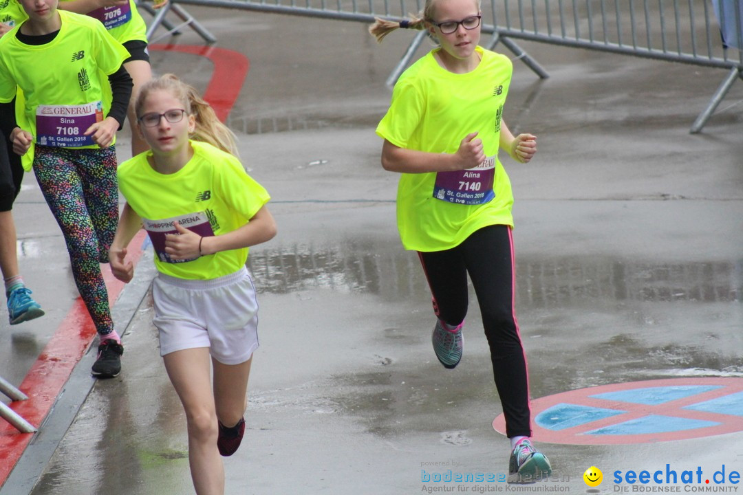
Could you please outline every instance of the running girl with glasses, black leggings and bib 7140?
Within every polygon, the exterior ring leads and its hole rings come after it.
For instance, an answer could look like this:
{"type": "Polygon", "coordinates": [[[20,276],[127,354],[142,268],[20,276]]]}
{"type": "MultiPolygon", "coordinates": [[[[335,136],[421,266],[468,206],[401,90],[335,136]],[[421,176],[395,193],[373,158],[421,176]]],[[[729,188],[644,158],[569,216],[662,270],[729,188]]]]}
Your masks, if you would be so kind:
{"type": "Polygon", "coordinates": [[[514,313],[513,195],[498,151],[527,163],[536,137],[514,137],[502,119],[513,67],[478,46],[480,21],[477,0],[426,0],[421,19],[371,25],[377,41],[408,27],[428,30],[439,45],[400,76],[377,134],[383,168],[401,174],[398,229],[403,246],[418,252],[432,292],[435,354],[448,369],[461,359],[469,274],[510,438],[509,480],[529,482],[549,476],[551,465],[530,441],[514,313]]]}

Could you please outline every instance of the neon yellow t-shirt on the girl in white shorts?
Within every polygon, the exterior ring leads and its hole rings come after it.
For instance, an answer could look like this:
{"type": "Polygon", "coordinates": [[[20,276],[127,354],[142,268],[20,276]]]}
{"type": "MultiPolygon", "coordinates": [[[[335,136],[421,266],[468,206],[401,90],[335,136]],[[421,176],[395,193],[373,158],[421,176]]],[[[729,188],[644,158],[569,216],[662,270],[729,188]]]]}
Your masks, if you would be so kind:
{"type": "Polygon", "coordinates": [[[174,231],[172,220],[199,235],[227,234],[244,226],[270,196],[251,178],[236,157],[204,142],[191,141],[194,154],[175,174],[160,174],[149,165],[152,151],[138,154],[119,167],[119,189],[143,220],[158,271],[188,280],[230,275],[245,266],[248,249],[221,251],[173,263],[160,252],[163,235],[174,231]]]}

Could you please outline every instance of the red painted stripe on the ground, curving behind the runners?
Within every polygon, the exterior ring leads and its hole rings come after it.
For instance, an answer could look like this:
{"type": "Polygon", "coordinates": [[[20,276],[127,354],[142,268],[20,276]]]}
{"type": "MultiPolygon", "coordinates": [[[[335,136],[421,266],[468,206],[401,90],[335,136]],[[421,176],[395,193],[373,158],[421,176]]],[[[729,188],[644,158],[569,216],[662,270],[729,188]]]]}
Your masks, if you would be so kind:
{"type": "MultiPolygon", "coordinates": [[[[244,55],[224,48],[191,45],[150,45],[149,49],[191,53],[210,59],[214,64],[214,70],[204,92],[204,99],[214,108],[219,119],[223,122],[227,119],[250,68],[250,62],[244,55]]],[[[137,250],[131,253],[134,264],[142,255],[141,248],[145,237],[146,233],[141,231],[132,240],[132,245],[138,246],[137,250]]],[[[117,281],[107,269],[103,269],[103,278],[108,289],[109,304],[114,306],[124,283],[117,281]]],[[[11,402],[9,407],[23,416],[27,422],[36,426],[41,424],[95,335],[96,330],[88,310],[82,299],[77,298],[19,386],[19,390],[28,396],[28,400],[11,402]]],[[[10,472],[32,438],[33,435],[19,433],[9,423],[0,422],[0,487],[10,476],[10,472]]]]}

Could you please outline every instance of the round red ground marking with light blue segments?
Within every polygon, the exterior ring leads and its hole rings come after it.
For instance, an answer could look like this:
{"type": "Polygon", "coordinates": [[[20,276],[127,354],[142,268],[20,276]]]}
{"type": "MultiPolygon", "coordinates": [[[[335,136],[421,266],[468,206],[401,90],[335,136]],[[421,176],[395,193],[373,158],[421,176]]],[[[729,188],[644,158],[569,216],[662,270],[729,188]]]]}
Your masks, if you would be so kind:
{"type": "MultiPolygon", "coordinates": [[[[743,378],[698,377],[605,384],[531,401],[540,442],[620,445],[743,432],[743,378]]],[[[505,434],[505,417],[493,420],[505,434]]]]}

